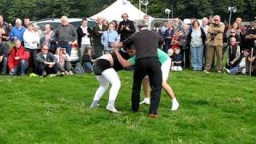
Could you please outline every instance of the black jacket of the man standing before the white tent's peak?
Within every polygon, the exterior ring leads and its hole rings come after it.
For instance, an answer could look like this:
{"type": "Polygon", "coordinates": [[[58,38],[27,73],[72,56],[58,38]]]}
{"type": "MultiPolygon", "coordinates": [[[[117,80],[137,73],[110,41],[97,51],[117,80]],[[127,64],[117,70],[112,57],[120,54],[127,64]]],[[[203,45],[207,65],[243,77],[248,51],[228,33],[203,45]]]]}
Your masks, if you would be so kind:
{"type": "Polygon", "coordinates": [[[120,38],[121,41],[125,40],[126,38],[129,38],[134,33],[135,33],[134,22],[130,21],[129,19],[127,21],[120,22],[118,27],[118,34],[121,34],[121,38],[120,38]],[[126,30],[125,27],[121,30],[122,26],[128,26],[130,30],[129,31],[126,30]]]}

